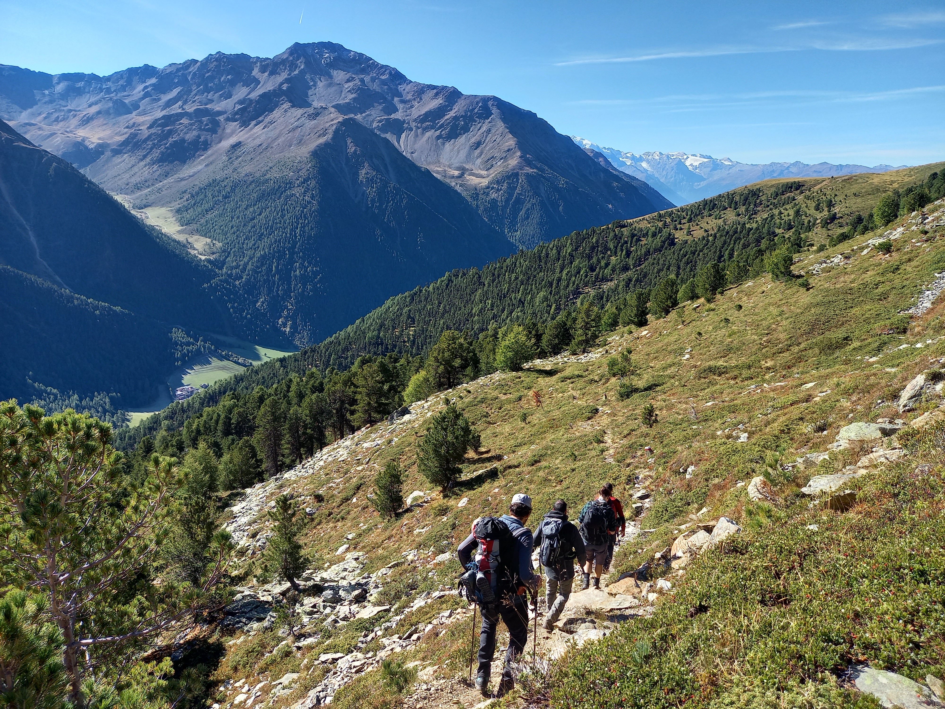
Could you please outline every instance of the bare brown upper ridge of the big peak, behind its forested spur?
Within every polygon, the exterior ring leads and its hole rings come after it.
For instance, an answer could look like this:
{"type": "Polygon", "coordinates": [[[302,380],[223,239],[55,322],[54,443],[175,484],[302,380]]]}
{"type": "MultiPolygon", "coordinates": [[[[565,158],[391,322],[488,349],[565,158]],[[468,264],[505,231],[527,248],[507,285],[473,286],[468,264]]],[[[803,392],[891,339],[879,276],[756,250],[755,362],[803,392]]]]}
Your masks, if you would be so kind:
{"type": "Polygon", "coordinates": [[[0,117],[140,203],[176,205],[213,176],[291,171],[328,139],[330,126],[352,118],[455,187],[520,247],[666,206],[532,112],[411,81],[335,43],[293,44],[272,59],[215,54],[104,78],[4,66],[0,117]]]}

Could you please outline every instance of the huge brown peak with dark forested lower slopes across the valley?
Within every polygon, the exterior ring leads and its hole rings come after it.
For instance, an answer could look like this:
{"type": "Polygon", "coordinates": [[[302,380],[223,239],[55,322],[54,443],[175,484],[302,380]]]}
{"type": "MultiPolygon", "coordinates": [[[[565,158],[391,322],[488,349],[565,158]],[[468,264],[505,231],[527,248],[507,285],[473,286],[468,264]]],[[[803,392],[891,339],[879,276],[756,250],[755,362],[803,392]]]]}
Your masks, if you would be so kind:
{"type": "Polygon", "coordinates": [[[0,117],[219,243],[234,315],[300,345],[453,268],[669,206],[532,112],[335,43],[104,78],[0,66],[0,117]]]}

